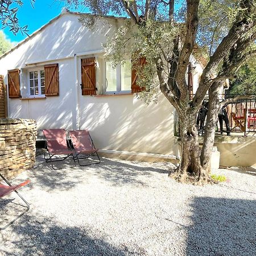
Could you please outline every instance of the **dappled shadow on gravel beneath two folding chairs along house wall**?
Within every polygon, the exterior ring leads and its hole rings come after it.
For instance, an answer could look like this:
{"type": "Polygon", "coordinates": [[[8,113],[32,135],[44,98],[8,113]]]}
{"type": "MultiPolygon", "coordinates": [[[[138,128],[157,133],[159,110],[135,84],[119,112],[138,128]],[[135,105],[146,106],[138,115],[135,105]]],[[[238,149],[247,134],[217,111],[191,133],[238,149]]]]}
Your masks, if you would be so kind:
{"type": "Polygon", "coordinates": [[[51,164],[45,162],[43,155],[39,155],[36,157],[34,168],[29,173],[29,179],[31,179],[29,187],[33,188],[36,184],[46,191],[69,190],[79,183],[86,183],[90,175],[109,181],[112,185],[146,185],[142,179],[143,176],[150,177],[153,172],[167,175],[171,165],[163,163],[163,167],[158,168],[152,163],[151,167],[143,167],[138,162],[101,158],[100,164],[81,167],[77,163],[76,167],[71,168],[72,166],[72,159],[67,159],[55,163],[58,170],[53,170],[51,164]]]}

